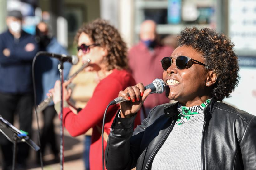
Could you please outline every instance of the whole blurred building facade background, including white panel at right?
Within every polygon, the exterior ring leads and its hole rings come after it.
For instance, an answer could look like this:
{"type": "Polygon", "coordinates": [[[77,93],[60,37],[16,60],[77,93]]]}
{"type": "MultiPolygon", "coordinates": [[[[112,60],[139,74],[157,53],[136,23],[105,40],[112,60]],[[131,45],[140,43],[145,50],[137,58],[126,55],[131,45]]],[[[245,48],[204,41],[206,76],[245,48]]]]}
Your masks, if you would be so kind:
{"type": "MultiPolygon", "coordinates": [[[[8,10],[6,7],[9,1],[14,0],[0,0],[0,31],[6,28],[5,17],[8,10]]],[[[239,87],[256,83],[255,0],[20,0],[20,2],[30,3],[32,7],[38,9],[35,15],[39,19],[41,17],[48,20],[52,25],[53,34],[62,45],[69,48],[74,47],[73,38],[77,29],[84,22],[96,18],[104,18],[115,25],[128,47],[139,41],[139,26],[145,19],[152,19],[158,24],[157,32],[160,38],[170,34],[176,35],[185,27],[216,29],[230,36],[234,42],[241,74],[243,70],[245,72],[248,70],[248,74],[240,80],[239,87]]],[[[76,51],[70,53],[75,54],[76,51]]],[[[244,95],[250,101],[256,101],[256,87],[247,89],[246,95],[239,87],[234,94],[244,95]]],[[[241,104],[230,99],[226,101],[234,102],[234,105],[241,104]]],[[[246,111],[252,112],[252,110],[246,111]]]]}

